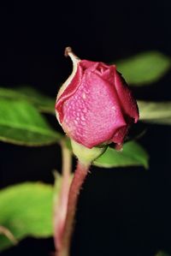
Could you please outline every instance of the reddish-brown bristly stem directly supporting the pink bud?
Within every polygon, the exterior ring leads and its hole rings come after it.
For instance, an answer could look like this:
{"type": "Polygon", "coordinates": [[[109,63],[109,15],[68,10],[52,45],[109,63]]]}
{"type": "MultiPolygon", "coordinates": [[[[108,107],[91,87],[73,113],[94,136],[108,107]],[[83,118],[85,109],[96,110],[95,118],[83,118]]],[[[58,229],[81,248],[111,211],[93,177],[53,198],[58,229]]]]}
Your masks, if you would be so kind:
{"type": "Polygon", "coordinates": [[[68,194],[68,210],[62,233],[62,245],[58,249],[57,256],[68,256],[71,244],[71,238],[74,230],[74,217],[76,212],[76,206],[79,198],[80,188],[82,187],[85,177],[89,170],[89,164],[77,165],[74,173],[74,179],[71,183],[71,187],[68,194]]]}

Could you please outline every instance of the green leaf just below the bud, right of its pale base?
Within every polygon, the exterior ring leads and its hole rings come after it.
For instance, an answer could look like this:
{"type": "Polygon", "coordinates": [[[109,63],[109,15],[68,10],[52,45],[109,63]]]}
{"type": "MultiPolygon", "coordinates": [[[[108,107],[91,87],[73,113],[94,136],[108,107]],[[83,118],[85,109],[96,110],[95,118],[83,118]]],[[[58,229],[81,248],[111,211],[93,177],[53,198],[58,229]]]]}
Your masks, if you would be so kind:
{"type": "Polygon", "coordinates": [[[144,148],[135,141],[130,141],[124,144],[121,152],[114,148],[108,147],[106,152],[96,161],[94,165],[104,168],[126,167],[126,166],[144,166],[148,168],[149,156],[144,148]]]}

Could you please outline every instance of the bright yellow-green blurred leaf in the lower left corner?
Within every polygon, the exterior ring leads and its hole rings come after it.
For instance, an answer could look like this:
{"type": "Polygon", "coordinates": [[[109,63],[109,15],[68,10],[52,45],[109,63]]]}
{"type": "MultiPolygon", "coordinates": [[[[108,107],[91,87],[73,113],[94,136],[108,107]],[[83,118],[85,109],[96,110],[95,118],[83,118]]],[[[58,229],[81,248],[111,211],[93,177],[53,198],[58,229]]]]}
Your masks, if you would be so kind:
{"type": "MultiPolygon", "coordinates": [[[[0,226],[9,229],[20,241],[27,236],[52,235],[53,187],[40,182],[26,182],[0,190],[0,226]]],[[[0,235],[0,251],[13,246],[0,235]]]]}

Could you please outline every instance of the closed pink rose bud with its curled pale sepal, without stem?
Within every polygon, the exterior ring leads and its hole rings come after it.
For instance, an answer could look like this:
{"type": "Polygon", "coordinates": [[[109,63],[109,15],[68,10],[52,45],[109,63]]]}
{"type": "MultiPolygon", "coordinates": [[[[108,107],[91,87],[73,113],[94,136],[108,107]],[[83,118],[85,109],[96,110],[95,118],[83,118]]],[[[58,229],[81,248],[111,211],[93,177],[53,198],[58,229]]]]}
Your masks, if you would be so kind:
{"type": "Polygon", "coordinates": [[[91,148],[114,142],[120,147],[139,110],[115,65],[80,60],[70,47],[74,69],[56,99],[56,116],[72,140],[91,148]]]}

